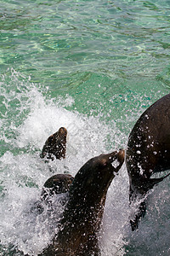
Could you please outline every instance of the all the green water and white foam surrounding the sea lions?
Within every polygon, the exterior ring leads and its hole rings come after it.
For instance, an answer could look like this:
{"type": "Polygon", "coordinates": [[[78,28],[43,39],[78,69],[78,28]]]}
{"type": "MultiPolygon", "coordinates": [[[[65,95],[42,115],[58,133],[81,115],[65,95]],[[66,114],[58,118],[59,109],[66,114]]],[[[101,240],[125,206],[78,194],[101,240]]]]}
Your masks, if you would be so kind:
{"type": "MultiPolygon", "coordinates": [[[[170,1],[0,0],[0,255],[37,255],[63,207],[31,211],[54,173],[127,147],[134,123],[170,91],[170,1]],[[44,163],[43,143],[68,130],[65,160],[44,163]]],[[[169,177],[129,226],[123,165],[111,183],[102,256],[170,254],[169,177]]]]}

